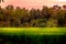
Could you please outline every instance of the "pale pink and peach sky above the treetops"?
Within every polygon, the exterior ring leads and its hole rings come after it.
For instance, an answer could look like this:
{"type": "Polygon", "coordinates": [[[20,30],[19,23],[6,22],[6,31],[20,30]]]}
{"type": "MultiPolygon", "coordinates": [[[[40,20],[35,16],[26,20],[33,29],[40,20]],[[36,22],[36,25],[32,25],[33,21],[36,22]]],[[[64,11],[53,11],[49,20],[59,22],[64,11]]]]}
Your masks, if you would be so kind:
{"type": "Polygon", "coordinates": [[[43,6],[52,7],[54,4],[66,4],[66,0],[4,0],[4,2],[0,3],[2,8],[9,4],[26,9],[42,9],[43,6]]]}

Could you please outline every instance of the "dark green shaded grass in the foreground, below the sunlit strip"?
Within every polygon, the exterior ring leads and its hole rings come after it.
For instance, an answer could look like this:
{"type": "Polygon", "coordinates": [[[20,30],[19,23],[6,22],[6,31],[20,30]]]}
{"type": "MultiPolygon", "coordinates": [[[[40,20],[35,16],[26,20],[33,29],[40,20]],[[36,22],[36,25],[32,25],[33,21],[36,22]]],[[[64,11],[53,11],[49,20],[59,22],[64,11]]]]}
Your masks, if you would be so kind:
{"type": "Polygon", "coordinates": [[[62,35],[9,35],[0,33],[0,44],[66,44],[66,34],[62,35]]]}

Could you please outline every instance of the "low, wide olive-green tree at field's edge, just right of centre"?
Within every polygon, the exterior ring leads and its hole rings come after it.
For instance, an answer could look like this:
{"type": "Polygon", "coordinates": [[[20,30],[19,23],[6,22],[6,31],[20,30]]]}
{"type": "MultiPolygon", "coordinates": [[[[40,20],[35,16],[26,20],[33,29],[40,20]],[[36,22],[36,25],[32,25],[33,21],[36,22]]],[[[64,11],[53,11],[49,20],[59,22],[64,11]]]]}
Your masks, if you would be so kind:
{"type": "Polygon", "coordinates": [[[32,20],[31,21],[31,26],[45,28],[46,26],[46,20],[43,20],[43,19],[32,20]]]}

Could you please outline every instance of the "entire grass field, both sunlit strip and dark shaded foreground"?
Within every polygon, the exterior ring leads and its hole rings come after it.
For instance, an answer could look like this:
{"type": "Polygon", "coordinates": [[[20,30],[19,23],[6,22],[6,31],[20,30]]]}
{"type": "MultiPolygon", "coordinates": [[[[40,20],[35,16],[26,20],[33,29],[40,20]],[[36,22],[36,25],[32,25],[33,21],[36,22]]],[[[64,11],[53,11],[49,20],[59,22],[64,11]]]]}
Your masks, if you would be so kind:
{"type": "Polygon", "coordinates": [[[65,42],[66,28],[0,28],[0,44],[64,44],[65,42]]]}

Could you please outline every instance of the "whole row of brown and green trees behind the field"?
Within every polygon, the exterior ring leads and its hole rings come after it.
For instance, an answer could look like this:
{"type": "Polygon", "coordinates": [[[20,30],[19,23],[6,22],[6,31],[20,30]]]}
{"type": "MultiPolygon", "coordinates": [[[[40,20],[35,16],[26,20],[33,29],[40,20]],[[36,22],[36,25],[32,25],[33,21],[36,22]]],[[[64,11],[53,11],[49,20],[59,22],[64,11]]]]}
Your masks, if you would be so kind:
{"type": "MultiPolygon", "coordinates": [[[[66,6],[64,6],[66,8],[66,6]]],[[[40,9],[0,7],[0,28],[62,28],[66,26],[66,9],[43,6],[40,9]]]]}

